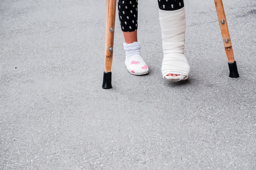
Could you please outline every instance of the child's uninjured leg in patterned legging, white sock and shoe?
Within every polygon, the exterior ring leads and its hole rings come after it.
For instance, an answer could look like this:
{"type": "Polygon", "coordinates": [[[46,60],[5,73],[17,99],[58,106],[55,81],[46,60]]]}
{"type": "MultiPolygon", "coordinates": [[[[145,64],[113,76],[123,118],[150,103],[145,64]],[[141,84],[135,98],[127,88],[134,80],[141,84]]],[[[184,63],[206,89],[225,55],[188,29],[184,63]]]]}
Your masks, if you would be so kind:
{"type": "Polygon", "coordinates": [[[118,0],[118,14],[124,35],[126,51],[126,68],[134,75],[148,73],[148,66],[140,54],[141,45],[137,41],[137,0],[118,0]]]}

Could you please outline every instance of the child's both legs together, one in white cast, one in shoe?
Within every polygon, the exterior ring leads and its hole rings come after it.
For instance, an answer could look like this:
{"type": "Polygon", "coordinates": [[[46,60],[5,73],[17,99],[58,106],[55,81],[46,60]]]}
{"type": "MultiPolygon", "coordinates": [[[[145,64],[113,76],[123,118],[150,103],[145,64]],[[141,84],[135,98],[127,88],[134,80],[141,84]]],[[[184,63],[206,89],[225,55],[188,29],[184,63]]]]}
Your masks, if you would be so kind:
{"type": "MultiPolygon", "coordinates": [[[[118,0],[118,13],[124,33],[126,68],[134,75],[148,73],[148,66],[140,54],[137,41],[137,0],[118,0]]],[[[184,56],[185,11],[183,0],[158,0],[164,58],[162,75],[180,81],[189,76],[189,64],[184,56]]]]}

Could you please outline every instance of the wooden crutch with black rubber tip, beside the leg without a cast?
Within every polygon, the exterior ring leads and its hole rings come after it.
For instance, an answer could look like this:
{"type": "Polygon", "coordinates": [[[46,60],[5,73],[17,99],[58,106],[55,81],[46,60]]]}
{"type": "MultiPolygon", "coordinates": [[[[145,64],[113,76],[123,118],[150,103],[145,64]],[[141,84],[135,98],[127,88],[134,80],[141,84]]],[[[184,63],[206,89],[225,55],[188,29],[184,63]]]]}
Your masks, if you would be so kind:
{"type": "Polygon", "coordinates": [[[106,9],[106,37],[105,37],[105,71],[103,75],[102,88],[112,88],[111,66],[114,45],[114,29],[117,0],[107,0],[106,9]]]}

